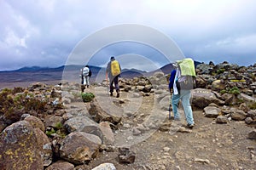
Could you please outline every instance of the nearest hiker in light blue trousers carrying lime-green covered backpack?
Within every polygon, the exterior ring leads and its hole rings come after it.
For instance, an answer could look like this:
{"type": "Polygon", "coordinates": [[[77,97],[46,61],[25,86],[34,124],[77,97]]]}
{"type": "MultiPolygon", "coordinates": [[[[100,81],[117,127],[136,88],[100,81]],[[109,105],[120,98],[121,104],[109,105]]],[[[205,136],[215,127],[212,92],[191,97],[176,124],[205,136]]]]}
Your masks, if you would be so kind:
{"type": "Polygon", "coordinates": [[[190,105],[191,89],[193,88],[195,88],[194,60],[190,58],[178,60],[175,77],[173,78],[173,81],[169,82],[169,89],[170,92],[172,92],[172,111],[174,114],[174,120],[180,121],[178,104],[179,100],[181,100],[186,121],[190,128],[195,125],[190,105]]]}

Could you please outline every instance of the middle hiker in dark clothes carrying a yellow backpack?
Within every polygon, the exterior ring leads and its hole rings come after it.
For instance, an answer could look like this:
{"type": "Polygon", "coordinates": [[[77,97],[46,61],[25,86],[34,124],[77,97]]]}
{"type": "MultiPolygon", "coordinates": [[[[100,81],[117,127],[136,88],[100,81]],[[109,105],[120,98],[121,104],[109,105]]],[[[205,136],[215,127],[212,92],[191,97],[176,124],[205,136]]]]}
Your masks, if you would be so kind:
{"type": "Polygon", "coordinates": [[[120,77],[120,73],[121,73],[121,66],[119,65],[119,62],[114,59],[114,57],[112,56],[110,58],[110,61],[108,62],[108,66],[107,66],[107,71],[106,74],[109,77],[109,92],[110,92],[110,96],[113,96],[113,84],[114,84],[114,88],[116,90],[116,97],[119,98],[119,77],[120,77]]]}

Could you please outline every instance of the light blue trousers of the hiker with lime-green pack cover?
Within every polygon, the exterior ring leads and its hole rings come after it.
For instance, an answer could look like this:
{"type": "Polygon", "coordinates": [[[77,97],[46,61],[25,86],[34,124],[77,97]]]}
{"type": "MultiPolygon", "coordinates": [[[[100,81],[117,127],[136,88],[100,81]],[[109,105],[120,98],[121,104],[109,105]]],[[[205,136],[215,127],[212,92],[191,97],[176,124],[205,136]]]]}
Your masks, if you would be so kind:
{"type": "Polygon", "coordinates": [[[178,113],[178,102],[181,99],[186,121],[188,124],[194,124],[193,112],[189,102],[190,97],[190,90],[180,90],[179,94],[172,94],[172,111],[174,119],[180,119],[180,114],[178,113]]]}

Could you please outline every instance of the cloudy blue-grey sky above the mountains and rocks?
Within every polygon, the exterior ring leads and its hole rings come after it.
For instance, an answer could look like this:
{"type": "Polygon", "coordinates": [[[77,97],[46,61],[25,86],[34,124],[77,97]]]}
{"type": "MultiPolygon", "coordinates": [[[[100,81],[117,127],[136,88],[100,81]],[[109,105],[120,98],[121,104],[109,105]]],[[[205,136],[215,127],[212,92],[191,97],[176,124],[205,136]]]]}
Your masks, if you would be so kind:
{"type": "Polygon", "coordinates": [[[253,65],[255,16],[254,0],[0,0],[0,71],[102,66],[111,55],[149,71],[177,48],[206,63],[253,65]]]}

